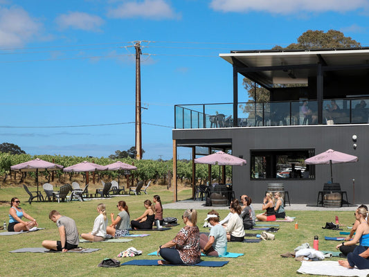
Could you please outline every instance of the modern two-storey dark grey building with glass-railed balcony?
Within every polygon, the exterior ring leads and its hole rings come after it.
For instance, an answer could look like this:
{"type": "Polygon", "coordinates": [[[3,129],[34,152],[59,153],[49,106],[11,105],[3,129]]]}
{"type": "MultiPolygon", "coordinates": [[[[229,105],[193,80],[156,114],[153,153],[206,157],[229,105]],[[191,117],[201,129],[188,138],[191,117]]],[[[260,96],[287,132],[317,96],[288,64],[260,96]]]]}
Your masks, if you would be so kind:
{"type": "Polygon", "coordinates": [[[330,166],[306,166],[304,160],[333,149],[359,157],[334,164],[334,182],[350,203],[368,202],[369,48],[219,56],[232,65],[233,102],[176,105],[174,159],[178,147],[192,148],[193,157],[231,150],[247,161],[233,166],[236,197],[260,202],[268,184],[281,183],[292,203],[313,204],[330,181],[330,166]],[[258,84],[255,101],[238,102],[239,75],[258,84]],[[258,100],[260,87],[268,101],[258,100]]]}

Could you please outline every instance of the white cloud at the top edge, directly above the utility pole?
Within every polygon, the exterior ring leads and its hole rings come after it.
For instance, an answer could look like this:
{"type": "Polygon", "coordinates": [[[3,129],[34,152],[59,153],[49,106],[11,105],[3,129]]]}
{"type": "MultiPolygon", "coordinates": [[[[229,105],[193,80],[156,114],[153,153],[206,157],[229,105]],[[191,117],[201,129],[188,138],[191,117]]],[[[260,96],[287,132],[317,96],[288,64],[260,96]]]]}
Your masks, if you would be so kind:
{"type": "Polygon", "coordinates": [[[179,18],[172,7],[164,0],[126,1],[107,13],[112,18],[142,17],[147,19],[179,18]]]}

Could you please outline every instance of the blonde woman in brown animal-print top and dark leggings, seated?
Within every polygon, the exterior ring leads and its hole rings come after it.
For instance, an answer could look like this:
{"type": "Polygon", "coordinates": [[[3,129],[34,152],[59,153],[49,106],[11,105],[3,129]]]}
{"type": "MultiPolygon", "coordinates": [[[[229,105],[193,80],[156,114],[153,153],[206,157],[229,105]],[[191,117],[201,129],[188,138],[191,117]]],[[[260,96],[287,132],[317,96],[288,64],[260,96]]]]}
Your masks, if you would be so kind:
{"type": "Polygon", "coordinates": [[[200,232],[196,226],[197,211],[193,208],[182,215],[185,226],[173,240],[161,245],[157,251],[159,265],[195,265],[200,262],[200,232]]]}

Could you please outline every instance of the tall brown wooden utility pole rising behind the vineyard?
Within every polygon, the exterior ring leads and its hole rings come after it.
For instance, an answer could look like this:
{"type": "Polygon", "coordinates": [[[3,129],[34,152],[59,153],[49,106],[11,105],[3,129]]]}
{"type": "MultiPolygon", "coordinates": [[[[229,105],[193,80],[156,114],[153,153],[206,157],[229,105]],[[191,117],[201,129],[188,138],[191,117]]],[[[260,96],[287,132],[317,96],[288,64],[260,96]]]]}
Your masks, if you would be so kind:
{"type": "Polygon", "coordinates": [[[136,159],[142,159],[141,136],[141,42],[135,42],[136,48],[136,159]]]}

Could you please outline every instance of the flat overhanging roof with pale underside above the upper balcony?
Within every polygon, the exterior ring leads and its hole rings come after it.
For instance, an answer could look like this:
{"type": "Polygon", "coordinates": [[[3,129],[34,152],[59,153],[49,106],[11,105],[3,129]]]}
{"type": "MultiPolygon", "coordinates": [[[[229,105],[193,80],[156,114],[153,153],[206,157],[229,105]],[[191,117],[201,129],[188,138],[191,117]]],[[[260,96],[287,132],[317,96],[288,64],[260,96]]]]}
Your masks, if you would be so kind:
{"type": "MultiPolygon", "coordinates": [[[[238,72],[245,77],[266,87],[273,87],[273,84],[283,83],[282,80],[294,83],[316,76],[318,63],[322,64],[323,70],[337,71],[342,75],[357,75],[358,72],[352,73],[352,69],[368,68],[369,48],[231,51],[219,54],[219,57],[236,64],[238,72]]],[[[362,71],[361,74],[366,72],[362,71]]]]}

